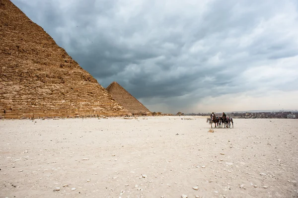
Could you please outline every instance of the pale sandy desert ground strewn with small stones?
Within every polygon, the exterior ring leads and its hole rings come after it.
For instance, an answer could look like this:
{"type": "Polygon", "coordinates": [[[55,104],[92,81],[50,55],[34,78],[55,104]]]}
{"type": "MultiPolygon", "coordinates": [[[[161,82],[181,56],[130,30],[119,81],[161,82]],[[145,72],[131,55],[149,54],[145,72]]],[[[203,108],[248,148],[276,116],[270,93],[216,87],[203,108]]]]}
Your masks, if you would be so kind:
{"type": "Polygon", "coordinates": [[[189,116],[0,120],[0,198],[298,197],[298,120],[209,129],[189,116]]]}

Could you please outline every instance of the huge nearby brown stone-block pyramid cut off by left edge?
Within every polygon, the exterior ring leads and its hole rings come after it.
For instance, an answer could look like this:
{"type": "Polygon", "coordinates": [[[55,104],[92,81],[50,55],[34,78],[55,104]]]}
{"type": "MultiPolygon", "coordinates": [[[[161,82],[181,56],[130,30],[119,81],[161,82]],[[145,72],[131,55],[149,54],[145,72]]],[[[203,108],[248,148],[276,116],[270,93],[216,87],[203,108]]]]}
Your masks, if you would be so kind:
{"type": "Polygon", "coordinates": [[[43,28],[0,0],[1,118],[126,114],[43,28]]]}

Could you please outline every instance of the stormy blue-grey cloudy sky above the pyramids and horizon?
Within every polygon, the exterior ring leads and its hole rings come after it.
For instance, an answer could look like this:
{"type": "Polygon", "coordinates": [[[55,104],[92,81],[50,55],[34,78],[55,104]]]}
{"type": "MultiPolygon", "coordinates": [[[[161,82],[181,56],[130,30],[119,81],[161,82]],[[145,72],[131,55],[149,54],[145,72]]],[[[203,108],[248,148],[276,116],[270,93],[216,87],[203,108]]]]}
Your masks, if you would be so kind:
{"type": "Polygon", "coordinates": [[[12,0],[150,111],[298,109],[297,0],[12,0]]]}

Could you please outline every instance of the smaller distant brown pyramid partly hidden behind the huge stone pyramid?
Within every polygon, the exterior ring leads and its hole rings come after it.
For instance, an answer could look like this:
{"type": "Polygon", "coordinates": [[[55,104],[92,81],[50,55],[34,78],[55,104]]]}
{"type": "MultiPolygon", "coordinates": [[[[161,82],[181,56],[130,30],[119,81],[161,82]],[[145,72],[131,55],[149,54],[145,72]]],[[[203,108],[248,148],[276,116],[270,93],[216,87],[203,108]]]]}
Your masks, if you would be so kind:
{"type": "Polygon", "coordinates": [[[112,82],[107,88],[112,97],[132,114],[151,113],[141,102],[126,91],[117,82],[112,82]]]}

